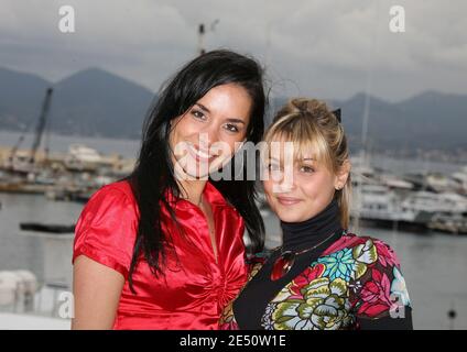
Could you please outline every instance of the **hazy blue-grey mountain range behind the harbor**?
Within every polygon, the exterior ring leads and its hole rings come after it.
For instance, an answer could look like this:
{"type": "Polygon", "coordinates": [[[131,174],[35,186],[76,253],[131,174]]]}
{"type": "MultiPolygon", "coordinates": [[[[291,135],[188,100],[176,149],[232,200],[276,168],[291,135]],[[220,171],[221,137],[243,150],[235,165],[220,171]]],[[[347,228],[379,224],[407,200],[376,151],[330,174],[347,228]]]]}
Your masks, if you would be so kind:
{"type": "MultiPolygon", "coordinates": [[[[45,90],[54,88],[47,123],[59,134],[139,139],[155,94],[100,68],[57,82],[0,68],[0,130],[33,131],[45,90]]],[[[272,101],[275,110],[286,99],[272,101]]],[[[399,102],[357,94],[330,100],[341,108],[351,147],[361,146],[363,111],[369,103],[367,147],[372,150],[467,150],[467,96],[425,91],[399,102]]],[[[269,117],[269,121],[271,117],[269,117]]]]}

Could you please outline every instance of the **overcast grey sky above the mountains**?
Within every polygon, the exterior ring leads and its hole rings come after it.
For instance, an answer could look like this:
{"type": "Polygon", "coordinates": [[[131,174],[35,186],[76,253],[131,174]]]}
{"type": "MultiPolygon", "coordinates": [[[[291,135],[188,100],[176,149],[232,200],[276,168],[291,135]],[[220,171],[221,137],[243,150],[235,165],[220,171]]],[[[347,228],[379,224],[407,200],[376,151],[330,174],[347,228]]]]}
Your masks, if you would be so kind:
{"type": "Polygon", "coordinates": [[[205,23],[205,48],[256,57],[273,96],[467,95],[466,16],[465,0],[0,0],[0,67],[53,82],[99,67],[155,92],[205,23]],[[62,6],[74,33],[59,31],[62,6]],[[393,6],[405,32],[390,31],[393,6]]]}

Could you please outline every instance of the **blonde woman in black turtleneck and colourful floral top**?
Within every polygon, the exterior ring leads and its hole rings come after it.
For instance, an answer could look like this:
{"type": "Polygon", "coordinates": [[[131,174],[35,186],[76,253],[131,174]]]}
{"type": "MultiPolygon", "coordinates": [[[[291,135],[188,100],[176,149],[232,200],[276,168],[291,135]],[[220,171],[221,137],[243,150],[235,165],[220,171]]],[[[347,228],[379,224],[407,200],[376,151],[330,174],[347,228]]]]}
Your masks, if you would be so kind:
{"type": "Polygon", "coordinates": [[[249,282],[221,327],[412,329],[395,253],[348,230],[350,162],[340,111],[293,99],[278,112],[264,145],[263,186],[283,244],[250,258],[249,282]]]}

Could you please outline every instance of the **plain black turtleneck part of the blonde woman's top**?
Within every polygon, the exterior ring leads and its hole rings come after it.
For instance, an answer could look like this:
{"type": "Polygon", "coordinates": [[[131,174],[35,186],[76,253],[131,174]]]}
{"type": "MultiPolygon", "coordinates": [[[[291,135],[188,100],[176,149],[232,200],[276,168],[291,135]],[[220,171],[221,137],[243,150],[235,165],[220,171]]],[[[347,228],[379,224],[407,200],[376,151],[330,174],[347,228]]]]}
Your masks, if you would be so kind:
{"type": "MultiPolygon", "coordinates": [[[[340,226],[339,207],[336,199],[315,217],[303,222],[283,222],[282,246],[273,250],[264,265],[247,284],[234,301],[234,315],[240,329],[261,330],[261,317],[267,305],[292,279],[298,276],[334,242],[340,239],[344,229],[340,226]],[[317,246],[316,246],[317,245],[317,246]],[[316,246],[315,249],[313,249],[316,246]],[[278,280],[271,280],[274,262],[284,251],[301,252],[287,274],[278,280]]],[[[360,322],[361,329],[411,329],[411,311],[405,319],[378,319],[360,322]]]]}

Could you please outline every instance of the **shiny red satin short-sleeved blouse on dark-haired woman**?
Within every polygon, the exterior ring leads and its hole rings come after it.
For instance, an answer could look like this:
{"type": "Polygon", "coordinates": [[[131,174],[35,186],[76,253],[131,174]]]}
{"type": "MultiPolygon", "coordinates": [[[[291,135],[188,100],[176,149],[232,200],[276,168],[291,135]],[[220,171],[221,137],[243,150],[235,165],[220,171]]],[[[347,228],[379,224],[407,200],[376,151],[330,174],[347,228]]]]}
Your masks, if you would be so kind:
{"type": "Polygon", "coordinates": [[[166,251],[165,277],[154,276],[140,256],[132,276],[137,295],[128,283],[139,218],[130,185],[104,186],[89,199],[76,224],[73,262],[83,254],[126,278],[113,329],[219,328],[222,309],[247,280],[245,224],[209,183],[204,197],[213,209],[217,262],[202,210],[167,193],[185,237],[162,207],[162,228],[173,244],[166,251]]]}

